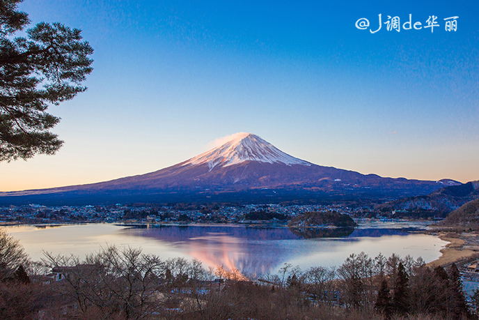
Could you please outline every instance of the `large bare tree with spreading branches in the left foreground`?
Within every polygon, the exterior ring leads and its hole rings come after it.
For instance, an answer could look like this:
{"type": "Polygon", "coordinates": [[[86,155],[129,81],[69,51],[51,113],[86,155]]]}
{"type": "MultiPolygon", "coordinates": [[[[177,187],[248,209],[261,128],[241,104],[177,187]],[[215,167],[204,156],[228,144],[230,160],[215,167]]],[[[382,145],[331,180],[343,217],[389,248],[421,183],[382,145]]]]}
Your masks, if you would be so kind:
{"type": "Polygon", "coordinates": [[[62,289],[77,302],[81,312],[95,307],[104,318],[116,314],[141,319],[161,310],[158,288],[164,261],[155,255],[131,247],[106,247],[84,261],[52,254],[45,254],[44,261],[65,272],[62,289]]]}

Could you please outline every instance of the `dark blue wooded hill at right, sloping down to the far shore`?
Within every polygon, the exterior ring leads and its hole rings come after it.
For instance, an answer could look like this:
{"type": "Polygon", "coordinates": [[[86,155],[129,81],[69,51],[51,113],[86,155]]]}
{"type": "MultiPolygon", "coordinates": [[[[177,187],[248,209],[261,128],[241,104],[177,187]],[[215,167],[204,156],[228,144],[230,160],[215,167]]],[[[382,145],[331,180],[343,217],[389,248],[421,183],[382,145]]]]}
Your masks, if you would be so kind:
{"type": "Polygon", "coordinates": [[[479,198],[479,181],[441,188],[430,195],[407,197],[377,206],[379,211],[398,215],[446,216],[473,199],[479,198]]]}

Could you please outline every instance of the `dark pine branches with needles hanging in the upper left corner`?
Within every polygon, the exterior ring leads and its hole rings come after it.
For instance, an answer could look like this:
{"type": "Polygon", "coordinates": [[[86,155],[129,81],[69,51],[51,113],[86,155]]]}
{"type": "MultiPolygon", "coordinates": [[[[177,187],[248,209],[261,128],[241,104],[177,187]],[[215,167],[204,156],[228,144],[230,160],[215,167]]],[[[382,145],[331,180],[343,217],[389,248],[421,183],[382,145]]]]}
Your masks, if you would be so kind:
{"type": "Polygon", "coordinates": [[[0,1],[0,161],[55,153],[63,142],[49,130],[60,119],[47,107],[85,91],[93,70],[79,29],[41,22],[15,37],[29,24],[20,2],[0,1]]]}

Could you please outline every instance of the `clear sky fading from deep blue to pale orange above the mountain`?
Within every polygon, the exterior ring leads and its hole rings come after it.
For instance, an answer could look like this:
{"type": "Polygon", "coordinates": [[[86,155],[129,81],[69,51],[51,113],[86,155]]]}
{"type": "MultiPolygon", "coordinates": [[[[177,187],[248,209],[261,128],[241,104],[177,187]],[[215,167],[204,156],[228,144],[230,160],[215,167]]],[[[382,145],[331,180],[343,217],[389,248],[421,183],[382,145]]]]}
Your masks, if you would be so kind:
{"type": "MultiPolygon", "coordinates": [[[[0,190],[173,165],[234,132],[364,174],[479,179],[477,1],[25,0],[83,30],[88,91],[50,111],[65,146],[0,163],[0,190]],[[421,2],[421,3],[420,3],[421,2]],[[261,3],[261,4],[259,4],[261,3]],[[378,13],[441,26],[375,34],[378,13]],[[456,32],[444,17],[458,15],[456,32]]],[[[385,27],[385,26],[384,26],[385,27]]]]}

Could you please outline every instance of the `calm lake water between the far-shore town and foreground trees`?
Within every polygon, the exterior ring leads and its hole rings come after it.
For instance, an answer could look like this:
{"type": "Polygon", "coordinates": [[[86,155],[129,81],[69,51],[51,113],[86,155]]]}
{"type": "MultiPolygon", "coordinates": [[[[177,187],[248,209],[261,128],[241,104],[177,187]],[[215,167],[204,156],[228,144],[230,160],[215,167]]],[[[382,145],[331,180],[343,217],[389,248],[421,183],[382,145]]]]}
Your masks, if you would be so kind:
{"type": "Polygon", "coordinates": [[[276,273],[289,263],[302,269],[311,266],[340,266],[350,254],[361,251],[375,256],[392,253],[440,257],[448,242],[436,236],[414,234],[422,223],[361,222],[359,228],[311,233],[288,228],[252,228],[233,225],[138,226],[118,224],[73,224],[62,226],[12,226],[17,238],[33,259],[43,250],[54,254],[84,256],[105,245],[141,247],[165,259],[198,259],[206,267],[237,268],[246,275],[276,273]],[[322,238],[311,238],[322,236],[322,238]],[[306,238],[305,238],[306,237],[306,238]]]}

